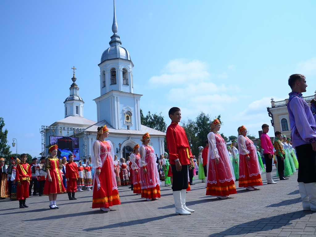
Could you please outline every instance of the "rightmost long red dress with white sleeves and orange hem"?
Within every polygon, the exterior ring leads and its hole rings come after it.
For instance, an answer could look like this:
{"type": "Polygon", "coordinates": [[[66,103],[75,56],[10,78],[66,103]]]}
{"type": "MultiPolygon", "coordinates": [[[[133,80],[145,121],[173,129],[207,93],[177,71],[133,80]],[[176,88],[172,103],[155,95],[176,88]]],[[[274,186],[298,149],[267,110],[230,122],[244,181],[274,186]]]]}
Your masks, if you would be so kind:
{"type": "Polygon", "coordinates": [[[239,187],[262,185],[257,149],[252,140],[239,135],[237,143],[239,150],[239,187]],[[246,159],[247,154],[250,161],[246,159]]]}

